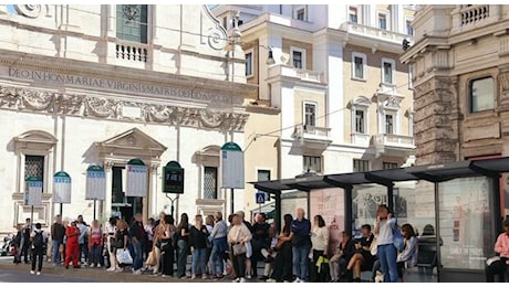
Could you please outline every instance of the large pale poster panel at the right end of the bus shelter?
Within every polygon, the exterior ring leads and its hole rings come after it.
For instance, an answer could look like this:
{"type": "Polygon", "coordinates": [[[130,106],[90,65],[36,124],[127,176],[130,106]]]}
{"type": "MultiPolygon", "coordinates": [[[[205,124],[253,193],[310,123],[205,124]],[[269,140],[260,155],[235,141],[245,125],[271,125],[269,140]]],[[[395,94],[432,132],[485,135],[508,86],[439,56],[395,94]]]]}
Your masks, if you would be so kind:
{"type": "Polygon", "coordinates": [[[438,185],[444,268],[484,269],[494,255],[488,178],[465,178],[438,185]]]}

